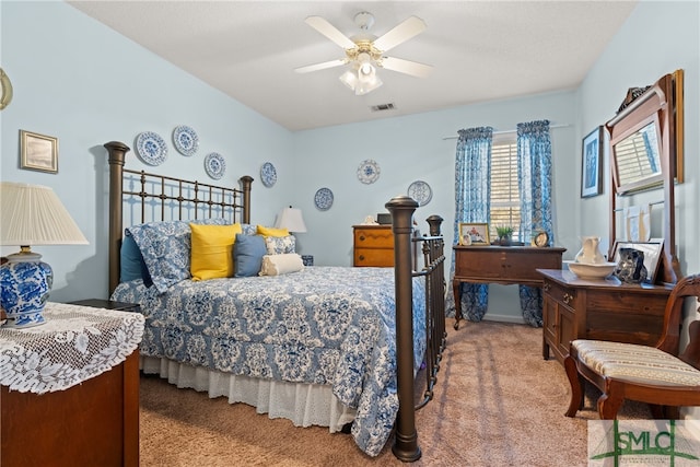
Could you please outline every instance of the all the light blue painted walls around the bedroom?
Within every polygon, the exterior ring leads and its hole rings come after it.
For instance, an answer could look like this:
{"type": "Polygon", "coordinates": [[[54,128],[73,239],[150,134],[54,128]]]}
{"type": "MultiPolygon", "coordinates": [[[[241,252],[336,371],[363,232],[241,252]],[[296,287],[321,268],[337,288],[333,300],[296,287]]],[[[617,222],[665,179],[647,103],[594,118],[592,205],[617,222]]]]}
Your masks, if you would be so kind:
{"type": "MultiPolygon", "coordinates": [[[[200,150],[194,157],[170,155],[159,171],[207,179],[203,154],[222,153],[224,182],[244,174],[256,178],[254,222],[269,223],[284,205],[302,208],[308,232],[298,235],[301,253],[317,265],[350,265],[351,225],[384,210],[393,196],[422,179],[432,201],[417,211],[445,219],[447,244],[454,225],[454,137],[460,128],[491,125],[511,130],[521,121],[547,118],[552,125],[557,244],[579,249],[579,236],[607,235],[608,196],[582,200],[581,139],[614,116],[628,87],[651,83],[677,68],[686,70],[686,178],[678,187],[678,244],[684,272],[700,270],[693,232],[699,231],[698,197],[698,2],[640,2],[579,90],[460,106],[291,133],[176,69],[112,30],[59,2],[2,1],[1,65],[14,85],[14,101],[2,113],[0,179],[51,186],[90,241],[90,246],[40,247],[54,266],[56,301],[104,296],[107,289],[106,153],[102,144],[156,131],[170,140],[176,125],[194,127],[200,150]],[[60,139],[59,174],[19,170],[19,130],[60,139]],[[361,161],[382,170],[372,185],[361,184],[361,161]],[[278,184],[259,183],[262,162],[272,162],[278,184]],[[315,191],[335,194],[320,212],[315,191]]],[[[575,52],[575,51],[572,51],[575,52]]],[[[128,167],[142,164],[131,154],[128,167]]],[[[606,174],[607,176],[607,174],[606,174]]],[[[1,253],[13,253],[2,248],[1,253]]],[[[487,317],[517,320],[514,287],[493,287],[487,317]]]]}

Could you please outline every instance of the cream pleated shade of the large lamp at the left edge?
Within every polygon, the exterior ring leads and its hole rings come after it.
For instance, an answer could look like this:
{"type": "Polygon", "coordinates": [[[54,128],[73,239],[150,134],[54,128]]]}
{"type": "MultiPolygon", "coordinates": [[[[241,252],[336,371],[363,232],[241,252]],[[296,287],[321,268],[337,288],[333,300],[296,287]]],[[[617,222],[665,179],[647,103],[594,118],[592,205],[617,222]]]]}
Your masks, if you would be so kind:
{"type": "Polygon", "coordinates": [[[0,245],[71,244],[88,240],[51,188],[0,182],[0,245]]]}

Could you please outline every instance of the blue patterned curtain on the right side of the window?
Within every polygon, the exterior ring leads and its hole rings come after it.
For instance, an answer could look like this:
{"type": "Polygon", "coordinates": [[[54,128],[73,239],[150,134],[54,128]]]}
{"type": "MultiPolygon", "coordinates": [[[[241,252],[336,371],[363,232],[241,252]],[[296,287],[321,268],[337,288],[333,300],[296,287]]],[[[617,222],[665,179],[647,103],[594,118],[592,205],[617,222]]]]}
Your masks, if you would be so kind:
{"type": "MultiPolygon", "coordinates": [[[[553,243],[551,221],[551,140],[549,121],[517,125],[517,184],[521,195],[521,240],[526,244],[533,232],[545,231],[553,243]]],[[[530,326],[542,326],[542,295],[535,287],[520,287],[523,318],[530,326]]]]}

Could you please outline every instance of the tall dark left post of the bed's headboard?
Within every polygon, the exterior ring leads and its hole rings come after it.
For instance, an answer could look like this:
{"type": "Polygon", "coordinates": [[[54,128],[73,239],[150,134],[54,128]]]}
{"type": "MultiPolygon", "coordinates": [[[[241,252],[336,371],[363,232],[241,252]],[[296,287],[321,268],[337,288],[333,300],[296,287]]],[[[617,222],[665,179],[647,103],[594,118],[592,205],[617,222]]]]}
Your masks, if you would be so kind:
{"type": "Polygon", "coordinates": [[[121,248],[121,179],[127,152],[131,149],[122,142],[109,141],[104,144],[109,161],[109,291],[119,284],[119,249],[121,248]]]}

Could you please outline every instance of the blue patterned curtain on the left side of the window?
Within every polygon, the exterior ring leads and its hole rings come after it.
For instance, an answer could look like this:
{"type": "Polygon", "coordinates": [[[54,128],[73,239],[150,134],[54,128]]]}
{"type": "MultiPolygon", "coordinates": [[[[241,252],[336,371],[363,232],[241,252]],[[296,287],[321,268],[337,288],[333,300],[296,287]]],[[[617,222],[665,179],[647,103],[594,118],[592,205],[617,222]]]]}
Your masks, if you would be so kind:
{"type": "MultiPolygon", "coordinates": [[[[459,222],[488,222],[491,203],[491,141],[493,128],[480,127],[458,131],[455,155],[455,224],[454,243],[459,240],[459,222]]],[[[452,253],[450,277],[455,275],[455,254],[452,253]]],[[[455,304],[452,288],[447,288],[447,311],[454,316],[455,304]]],[[[463,283],[462,314],[471,322],[479,322],[488,308],[487,284],[463,283]]]]}

